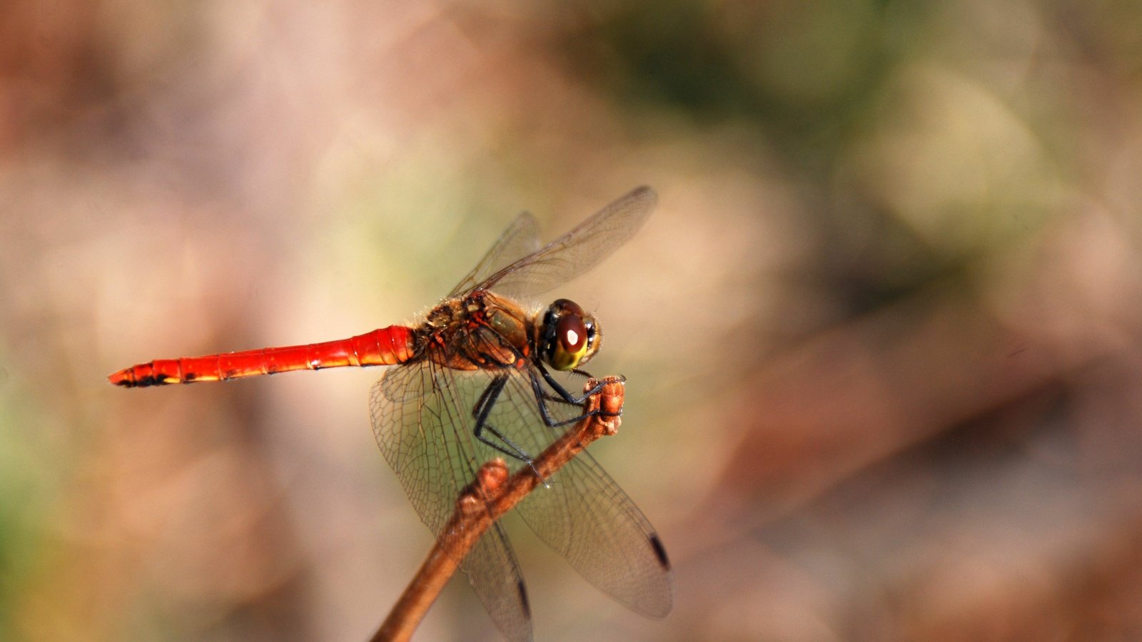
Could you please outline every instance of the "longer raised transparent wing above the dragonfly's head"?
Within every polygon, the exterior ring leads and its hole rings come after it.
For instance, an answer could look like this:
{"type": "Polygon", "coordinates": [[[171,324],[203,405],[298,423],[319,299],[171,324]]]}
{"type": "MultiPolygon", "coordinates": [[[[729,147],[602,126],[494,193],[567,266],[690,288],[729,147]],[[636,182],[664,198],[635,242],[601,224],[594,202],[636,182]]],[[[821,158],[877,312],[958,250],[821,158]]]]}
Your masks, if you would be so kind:
{"type": "MultiPolygon", "coordinates": [[[[544,294],[587,272],[630,240],[646,222],[657,202],[658,195],[653,190],[646,186],[637,187],[547,247],[518,258],[485,279],[475,279],[481,268],[490,267],[491,263],[494,263],[488,260],[493,252],[497,255],[497,260],[508,258],[507,251],[501,251],[508,249],[504,238],[514,233],[520,224],[517,218],[477,270],[452,290],[452,296],[464,295],[477,288],[524,299],[544,294]],[[485,266],[485,263],[489,265],[485,266]],[[469,280],[474,282],[468,283],[469,280]]],[[[531,224],[534,224],[533,219],[531,224]]]]}

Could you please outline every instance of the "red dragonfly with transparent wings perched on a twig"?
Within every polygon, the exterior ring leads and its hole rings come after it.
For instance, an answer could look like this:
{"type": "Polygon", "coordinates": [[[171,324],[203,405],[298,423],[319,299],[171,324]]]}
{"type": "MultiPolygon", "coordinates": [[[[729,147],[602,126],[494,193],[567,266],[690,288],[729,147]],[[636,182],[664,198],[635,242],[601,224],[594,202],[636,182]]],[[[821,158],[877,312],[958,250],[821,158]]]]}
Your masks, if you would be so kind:
{"type": "MultiPolygon", "coordinates": [[[[440,304],[408,326],[308,345],[154,360],[114,372],[126,387],[222,382],[290,370],[388,366],[371,388],[373,433],[420,519],[437,536],[478,467],[531,466],[593,392],[573,377],[598,352],[594,314],[534,299],[582,275],[643,226],[658,201],[638,187],[547,246],[523,212],[440,304]],[[580,386],[581,388],[582,386],[580,386]]],[[[662,618],[674,602],[666,548],[642,511],[586,451],[542,480],[516,513],[588,581],[629,609],[662,618]]],[[[460,561],[509,640],[532,635],[528,593],[496,522],[460,561]]]]}

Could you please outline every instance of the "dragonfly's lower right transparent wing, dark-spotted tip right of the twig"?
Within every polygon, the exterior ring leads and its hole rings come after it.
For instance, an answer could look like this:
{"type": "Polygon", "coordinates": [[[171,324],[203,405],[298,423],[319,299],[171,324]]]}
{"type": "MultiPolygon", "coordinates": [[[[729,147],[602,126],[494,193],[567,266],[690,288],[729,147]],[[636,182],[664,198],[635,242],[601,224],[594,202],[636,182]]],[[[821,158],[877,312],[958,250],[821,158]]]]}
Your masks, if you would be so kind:
{"type": "MultiPolygon", "coordinates": [[[[581,412],[578,406],[548,402],[556,419],[581,412]]],[[[538,454],[565,428],[552,428],[539,416],[525,372],[516,371],[492,411],[505,434],[529,454],[538,454]]],[[[546,480],[517,506],[532,531],[557,551],[588,581],[629,609],[665,617],[674,604],[674,579],[661,540],[589,452],[546,480]]]]}

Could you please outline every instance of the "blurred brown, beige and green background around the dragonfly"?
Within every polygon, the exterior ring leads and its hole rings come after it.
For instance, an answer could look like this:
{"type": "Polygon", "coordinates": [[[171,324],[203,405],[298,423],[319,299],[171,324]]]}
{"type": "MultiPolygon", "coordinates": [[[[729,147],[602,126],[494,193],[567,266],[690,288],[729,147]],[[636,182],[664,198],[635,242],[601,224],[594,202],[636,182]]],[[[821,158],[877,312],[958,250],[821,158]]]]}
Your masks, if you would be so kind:
{"type": "MultiPolygon", "coordinates": [[[[512,218],[660,207],[555,292],[654,621],[522,524],[539,640],[1142,637],[1131,0],[0,8],[0,639],[363,640],[432,538],[378,370],[118,390],[410,321],[512,218]]],[[[423,640],[496,640],[451,583],[423,640]]]]}

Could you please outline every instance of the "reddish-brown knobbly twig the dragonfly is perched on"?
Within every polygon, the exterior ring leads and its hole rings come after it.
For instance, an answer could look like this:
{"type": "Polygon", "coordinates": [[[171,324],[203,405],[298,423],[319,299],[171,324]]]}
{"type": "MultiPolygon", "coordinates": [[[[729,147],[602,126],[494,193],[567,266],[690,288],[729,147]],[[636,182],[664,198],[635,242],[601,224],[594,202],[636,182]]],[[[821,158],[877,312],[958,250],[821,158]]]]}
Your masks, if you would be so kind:
{"type": "Polygon", "coordinates": [[[444,585],[456,573],[460,560],[472,551],[480,536],[542,483],[541,480],[554,475],[590,442],[618,431],[621,423],[619,414],[622,411],[624,379],[588,379],[584,392],[600,383],[603,384],[602,388],[588,398],[584,406],[585,412],[598,412],[584,417],[548,446],[533,460],[534,471],[530,466],[522,466],[509,479],[507,465],[498,458],[480,467],[475,481],[457,498],[456,509],[441,530],[428,557],[372,636],[373,642],[409,640],[444,585]]]}

